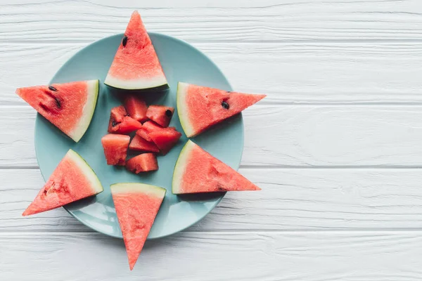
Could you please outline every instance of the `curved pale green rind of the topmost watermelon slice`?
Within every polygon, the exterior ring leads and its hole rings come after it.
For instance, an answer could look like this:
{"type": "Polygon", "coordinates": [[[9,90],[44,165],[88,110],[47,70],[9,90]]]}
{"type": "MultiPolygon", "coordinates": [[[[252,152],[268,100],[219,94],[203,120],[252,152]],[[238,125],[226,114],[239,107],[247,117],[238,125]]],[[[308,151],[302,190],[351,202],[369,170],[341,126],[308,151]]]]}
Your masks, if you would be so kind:
{"type": "Polygon", "coordinates": [[[167,84],[167,79],[164,75],[153,77],[150,79],[136,79],[136,80],[125,80],[113,77],[108,74],[104,84],[111,86],[116,89],[124,90],[160,90],[167,89],[169,85],[167,84]]]}

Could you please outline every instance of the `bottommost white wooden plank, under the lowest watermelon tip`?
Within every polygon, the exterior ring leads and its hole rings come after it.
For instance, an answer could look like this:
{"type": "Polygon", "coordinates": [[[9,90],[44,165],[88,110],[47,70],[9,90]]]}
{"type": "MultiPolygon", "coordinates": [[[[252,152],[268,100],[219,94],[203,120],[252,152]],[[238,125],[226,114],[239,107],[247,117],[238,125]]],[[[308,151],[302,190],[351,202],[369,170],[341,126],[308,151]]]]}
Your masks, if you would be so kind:
{"type": "Polygon", "coordinates": [[[129,271],[122,240],[0,235],[4,280],[419,280],[421,232],[183,233],[147,242],[129,271]]]}

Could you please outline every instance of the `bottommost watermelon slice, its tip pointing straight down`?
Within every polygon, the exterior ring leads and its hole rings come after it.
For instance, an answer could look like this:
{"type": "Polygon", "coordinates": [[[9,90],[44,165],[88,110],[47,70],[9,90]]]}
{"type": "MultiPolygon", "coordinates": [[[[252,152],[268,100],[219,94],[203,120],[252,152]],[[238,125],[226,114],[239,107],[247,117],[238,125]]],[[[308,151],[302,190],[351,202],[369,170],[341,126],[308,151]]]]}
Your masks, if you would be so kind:
{"type": "Polygon", "coordinates": [[[153,226],[166,190],[143,183],[115,183],[110,185],[110,190],[122,229],[129,268],[132,270],[153,226]]]}

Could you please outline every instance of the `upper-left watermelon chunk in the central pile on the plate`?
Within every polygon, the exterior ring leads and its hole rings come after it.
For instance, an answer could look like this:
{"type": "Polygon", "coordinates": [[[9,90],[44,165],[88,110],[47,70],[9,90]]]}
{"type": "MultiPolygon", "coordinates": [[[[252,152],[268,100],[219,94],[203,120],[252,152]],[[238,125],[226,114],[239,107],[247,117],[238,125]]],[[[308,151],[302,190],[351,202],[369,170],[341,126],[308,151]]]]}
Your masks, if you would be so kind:
{"type": "Polygon", "coordinates": [[[123,105],[113,107],[108,121],[108,133],[130,133],[141,129],[142,124],[127,116],[123,105]]]}

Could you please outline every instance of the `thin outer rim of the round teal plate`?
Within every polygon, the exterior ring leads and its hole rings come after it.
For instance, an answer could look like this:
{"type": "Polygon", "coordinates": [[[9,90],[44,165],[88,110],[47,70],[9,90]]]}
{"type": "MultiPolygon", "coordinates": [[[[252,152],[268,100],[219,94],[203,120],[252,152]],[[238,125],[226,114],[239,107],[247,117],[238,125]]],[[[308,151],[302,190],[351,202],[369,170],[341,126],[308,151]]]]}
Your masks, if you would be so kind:
{"type": "MultiPolygon", "coordinates": [[[[117,33],[117,34],[110,35],[108,37],[103,37],[103,38],[98,39],[98,40],[96,40],[94,42],[91,42],[90,44],[87,44],[87,46],[84,46],[83,48],[79,49],[70,58],[68,58],[68,60],[66,60],[66,62],[63,63],[63,65],[61,65],[58,68],[58,70],[56,70],[56,73],[49,80],[49,84],[52,84],[53,83],[53,81],[56,79],[56,76],[57,76],[58,72],[60,72],[60,70],[62,70],[63,68],[65,68],[70,63],[70,60],[72,58],[74,58],[76,55],[78,55],[79,53],[81,53],[82,51],[84,51],[86,48],[89,48],[90,46],[93,46],[94,44],[101,44],[101,41],[105,41],[106,39],[110,39],[110,37],[117,37],[117,36],[123,37],[123,35],[124,35],[124,33],[117,33]]],[[[229,79],[227,79],[226,75],[224,75],[224,72],[222,72],[222,70],[218,67],[218,65],[207,54],[205,54],[203,51],[200,51],[200,49],[198,49],[195,46],[189,44],[187,41],[184,41],[183,39],[179,39],[177,37],[172,37],[172,36],[167,35],[167,34],[162,34],[162,33],[159,33],[159,32],[148,32],[148,35],[150,37],[151,37],[151,35],[153,35],[153,37],[165,37],[166,39],[177,41],[177,42],[179,42],[179,44],[183,44],[185,46],[188,46],[189,48],[193,48],[195,51],[198,51],[198,53],[202,54],[212,65],[214,65],[214,67],[218,70],[218,72],[220,74],[222,74],[222,77],[224,77],[224,79],[226,80],[226,83],[229,85],[227,91],[233,91],[233,87],[231,86],[231,84],[229,82],[229,79]]],[[[108,85],[104,84],[104,82],[101,81],[101,79],[98,79],[98,81],[100,81],[103,86],[106,86],[106,87],[108,86],[108,85]]],[[[169,85],[169,88],[170,88],[170,85],[169,85]]],[[[99,98],[99,95],[98,95],[98,98],[99,98]]],[[[240,143],[240,145],[241,145],[241,157],[238,159],[238,162],[236,163],[236,166],[232,167],[236,171],[238,171],[239,167],[241,166],[241,161],[242,161],[242,157],[243,157],[243,150],[244,150],[244,147],[245,147],[245,124],[243,122],[243,114],[242,114],[242,112],[239,113],[239,117],[240,117],[240,122],[241,122],[241,134],[242,134],[241,143],[240,143]]],[[[35,117],[35,122],[34,122],[34,150],[35,150],[35,157],[37,158],[37,164],[38,164],[39,172],[41,173],[41,176],[44,179],[44,182],[46,182],[48,180],[48,178],[46,178],[46,176],[44,175],[44,173],[43,173],[43,171],[41,169],[41,166],[39,165],[39,156],[38,156],[39,155],[39,152],[37,150],[37,130],[36,130],[36,128],[37,128],[37,124],[39,123],[39,119],[40,118],[43,118],[43,117],[37,112],[37,115],[35,117]]],[[[89,126],[90,125],[91,125],[91,123],[89,124],[89,126]]],[[[89,129],[89,127],[88,127],[88,129],[89,129]]],[[[191,140],[191,139],[194,140],[195,138],[188,138],[188,140],[191,140]]],[[[102,185],[102,183],[101,183],[101,185],[102,185]]],[[[195,223],[198,223],[198,222],[202,221],[203,218],[205,218],[205,216],[207,216],[207,214],[210,214],[210,212],[213,209],[215,209],[215,207],[217,207],[217,205],[219,204],[219,202],[222,201],[222,199],[224,198],[225,195],[226,195],[226,192],[222,192],[222,195],[219,197],[218,200],[215,201],[215,203],[213,204],[213,206],[208,211],[206,211],[205,214],[203,214],[203,216],[198,217],[198,220],[197,221],[194,221],[193,223],[188,223],[188,225],[186,225],[184,228],[181,228],[179,230],[173,231],[171,233],[167,233],[165,235],[160,235],[160,236],[155,236],[155,237],[149,237],[149,234],[148,234],[148,237],[146,238],[146,240],[155,240],[155,239],[160,239],[160,238],[168,237],[170,235],[174,235],[176,233],[179,233],[181,231],[184,231],[187,228],[190,228],[195,223]]],[[[81,218],[79,218],[79,216],[76,216],[71,210],[69,210],[68,208],[66,208],[66,205],[63,206],[63,209],[65,209],[73,218],[76,218],[77,221],[79,221],[80,223],[82,223],[87,228],[89,228],[91,230],[94,230],[97,233],[101,233],[103,235],[107,235],[109,237],[123,239],[122,236],[113,235],[113,234],[110,234],[110,233],[106,233],[103,230],[101,230],[101,228],[96,228],[96,226],[93,226],[93,225],[87,223],[86,221],[83,221],[81,218]]]]}

